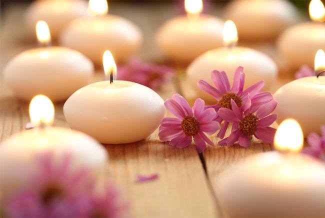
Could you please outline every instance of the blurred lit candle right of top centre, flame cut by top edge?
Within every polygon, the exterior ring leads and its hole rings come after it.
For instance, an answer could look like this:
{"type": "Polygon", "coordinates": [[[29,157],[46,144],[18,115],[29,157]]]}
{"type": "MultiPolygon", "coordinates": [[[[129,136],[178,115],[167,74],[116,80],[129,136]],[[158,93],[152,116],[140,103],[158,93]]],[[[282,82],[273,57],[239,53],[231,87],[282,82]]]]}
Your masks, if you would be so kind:
{"type": "Polygon", "coordinates": [[[156,42],[168,58],[189,62],[209,49],[222,46],[223,21],[200,14],[202,0],[185,0],[184,4],[187,16],[165,22],[156,34],[156,42]]]}

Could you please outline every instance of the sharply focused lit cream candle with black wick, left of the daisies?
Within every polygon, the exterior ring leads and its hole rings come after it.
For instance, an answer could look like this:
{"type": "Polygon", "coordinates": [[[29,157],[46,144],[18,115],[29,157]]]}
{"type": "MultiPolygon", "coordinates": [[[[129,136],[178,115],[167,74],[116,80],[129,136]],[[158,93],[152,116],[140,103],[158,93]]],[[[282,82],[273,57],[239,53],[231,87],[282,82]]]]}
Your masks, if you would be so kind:
{"type": "Polygon", "coordinates": [[[116,65],[108,50],[103,55],[103,66],[109,81],[84,86],[64,103],[67,123],[101,143],[119,144],[145,139],[163,118],[163,100],[144,85],[113,80],[116,65]]]}

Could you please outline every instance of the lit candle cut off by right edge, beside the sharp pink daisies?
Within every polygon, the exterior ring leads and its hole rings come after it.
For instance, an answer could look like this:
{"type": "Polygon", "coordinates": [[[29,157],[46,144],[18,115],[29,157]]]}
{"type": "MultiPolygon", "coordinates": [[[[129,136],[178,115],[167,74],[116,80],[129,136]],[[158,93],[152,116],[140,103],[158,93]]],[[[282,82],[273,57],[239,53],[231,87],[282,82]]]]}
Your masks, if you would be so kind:
{"type": "MultiPolygon", "coordinates": [[[[315,55],[315,72],[325,70],[325,54],[315,55]]],[[[292,117],[301,124],[304,135],[318,132],[325,123],[325,76],[309,76],[293,80],[274,94],[277,101],[277,120],[292,117]]]]}

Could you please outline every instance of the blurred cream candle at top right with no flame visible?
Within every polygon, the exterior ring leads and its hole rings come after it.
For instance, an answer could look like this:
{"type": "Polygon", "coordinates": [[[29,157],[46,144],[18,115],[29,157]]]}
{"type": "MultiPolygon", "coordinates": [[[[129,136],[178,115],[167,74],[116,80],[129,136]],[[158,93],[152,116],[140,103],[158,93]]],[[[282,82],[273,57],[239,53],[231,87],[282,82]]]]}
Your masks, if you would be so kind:
{"type": "Polygon", "coordinates": [[[297,20],[297,14],[287,0],[235,0],[225,10],[225,17],[236,23],[243,40],[274,39],[297,20]]]}

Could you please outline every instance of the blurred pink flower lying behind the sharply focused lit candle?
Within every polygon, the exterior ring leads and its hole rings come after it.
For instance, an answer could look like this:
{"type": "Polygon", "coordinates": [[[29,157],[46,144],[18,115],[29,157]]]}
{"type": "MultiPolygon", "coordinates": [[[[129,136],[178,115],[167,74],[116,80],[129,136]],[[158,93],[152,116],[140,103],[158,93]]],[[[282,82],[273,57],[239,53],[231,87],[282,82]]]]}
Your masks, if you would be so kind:
{"type": "Polygon", "coordinates": [[[143,63],[138,59],[130,59],[128,65],[118,67],[117,78],[140,83],[149,88],[159,88],[175,73],[172,68],[153,63],[143,63]]]}

